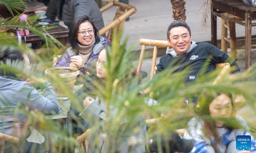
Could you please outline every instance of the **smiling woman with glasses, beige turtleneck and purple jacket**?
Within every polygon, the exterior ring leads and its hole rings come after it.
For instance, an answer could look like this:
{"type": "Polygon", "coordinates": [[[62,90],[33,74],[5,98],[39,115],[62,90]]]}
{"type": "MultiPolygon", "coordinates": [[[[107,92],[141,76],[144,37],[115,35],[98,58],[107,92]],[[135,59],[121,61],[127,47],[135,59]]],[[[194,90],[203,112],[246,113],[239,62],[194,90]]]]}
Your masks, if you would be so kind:
{"type": "MultiPolygon", "coordinates": [[[[103,46],[110,44],[105,37],[99,36],[92,19],[86,15],[73,20],[68,32],[68,41],[71,47],[54,67],[82,68],[90,58],[99,55],[103,46]]],[[[85,73],[85,68],[82,72],[85,73]]]]}

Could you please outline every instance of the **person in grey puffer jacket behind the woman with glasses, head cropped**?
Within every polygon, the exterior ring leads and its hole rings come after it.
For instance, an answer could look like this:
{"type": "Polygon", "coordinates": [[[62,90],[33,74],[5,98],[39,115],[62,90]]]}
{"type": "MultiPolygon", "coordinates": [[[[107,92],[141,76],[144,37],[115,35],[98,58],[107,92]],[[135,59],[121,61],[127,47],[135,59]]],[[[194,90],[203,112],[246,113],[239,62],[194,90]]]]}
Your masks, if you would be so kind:
{"type": "Polygon", "coordinates": [[[51,20],[55,20],[57,15],[68,27],[74,18],[87,15],[97,29],[104,26],[100,9],[95,0],[52,0],[45,15],[51,20]]]}

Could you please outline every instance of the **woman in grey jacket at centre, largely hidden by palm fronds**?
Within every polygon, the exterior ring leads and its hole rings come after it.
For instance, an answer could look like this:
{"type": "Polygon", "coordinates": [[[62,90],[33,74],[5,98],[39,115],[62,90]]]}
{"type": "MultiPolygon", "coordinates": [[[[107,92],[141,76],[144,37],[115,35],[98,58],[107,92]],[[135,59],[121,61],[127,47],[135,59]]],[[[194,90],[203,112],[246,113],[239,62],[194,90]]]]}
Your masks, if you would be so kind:
{"type": "MultiPolygon", "coordinates": [[[[98,61],[96,63],[96,72],[97,77],[102,78],[103,81],[106,80],[106,68],[104,65],[107,62],[107,51],[103,49],[100,52],[98,61]]],[[[118,102],[117,102],[118,103],[118,102]]],[[[117,104],[118,105],[118,104],[117,104]]],[[[119,153],[143,153],[145,152],[145,140],[147,137],[146,132],[146,120],[144,115],[137,116],[132,119],[120,118],[116,119],[118,108],[114,105],[110,105],[108,113],[107,104],[97,97],[95,100],[91,97],[86,97],[84,99],[84,110],[80,113],[80,116],[89,123],[89,126],[92,127],[92,132],[89,137],[88,142],[88,153],[108,153],[108,152],[119,152],[119,153]],[[115,134],[118,137],[113,137],[113,135],[106,135],[104,127],[105,122],[108,119],[116,121],[117,124],[115,127],[111,127],[116,130],[115,134]],[[103,121],[103,125],[99,127],[99,122],[103,121]],[[108,137],[108,138],[107,138],[108,137]],[[113,142],[106,142],[105,140],[113,140],[113,142]],[[129,143],[130,142],[130,143],[129,143]],[[131,143],[132,142],[132,143],[131,143]],[[137,143],[136,143],[137,142],[137,143]],[[110,148],[109,144],[111,144],[110,148]],[[111,149],[111,150],[108,150],[111,149]]],[[[109,125],[109,124],[108,124],[109,125]]],[[[109,133],[110,134],[110,133],[109,133]]]]}

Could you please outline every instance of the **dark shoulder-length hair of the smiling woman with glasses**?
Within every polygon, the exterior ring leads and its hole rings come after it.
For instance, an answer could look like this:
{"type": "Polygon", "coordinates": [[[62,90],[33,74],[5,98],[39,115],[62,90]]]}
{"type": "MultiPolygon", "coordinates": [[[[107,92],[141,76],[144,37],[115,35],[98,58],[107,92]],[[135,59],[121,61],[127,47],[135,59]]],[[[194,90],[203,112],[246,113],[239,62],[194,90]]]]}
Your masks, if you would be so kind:
{"type": "Polygon", "coordinates": [[[93,24],[92,19],[90,17],[88,17],[87,15],[84,15],[82,17],[75,18],[69,27],[68,42],[69,42],[70,46],[72,47],[72,49],[78,49],[77,44],[79,43],[79,41],[77,40],[77,32],[79,30],[79,25],[84,22],[89,22],[92,24],[92,27],[94,29],[95,43],[100,42],[98,29],[93,24]]]}

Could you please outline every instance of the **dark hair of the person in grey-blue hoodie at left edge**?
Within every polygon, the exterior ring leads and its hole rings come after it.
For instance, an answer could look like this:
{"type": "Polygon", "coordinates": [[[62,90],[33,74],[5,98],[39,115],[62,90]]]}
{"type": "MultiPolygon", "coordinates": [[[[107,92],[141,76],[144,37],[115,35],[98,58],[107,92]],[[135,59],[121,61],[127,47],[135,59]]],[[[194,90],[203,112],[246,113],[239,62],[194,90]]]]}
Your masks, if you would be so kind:
{"type": "MultiPolygon", "coordinates": [[[[6,64],[7,60],[11,60],[11,62],[16,60],[24,61],[23,53],[15,49],[7,49],[4,51],[3,55],[0,56],[0,62],[6,64]]],[[[17,77],[13,71],[8,69],[0,69],[0,76],[17,77]]]]}

